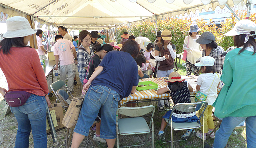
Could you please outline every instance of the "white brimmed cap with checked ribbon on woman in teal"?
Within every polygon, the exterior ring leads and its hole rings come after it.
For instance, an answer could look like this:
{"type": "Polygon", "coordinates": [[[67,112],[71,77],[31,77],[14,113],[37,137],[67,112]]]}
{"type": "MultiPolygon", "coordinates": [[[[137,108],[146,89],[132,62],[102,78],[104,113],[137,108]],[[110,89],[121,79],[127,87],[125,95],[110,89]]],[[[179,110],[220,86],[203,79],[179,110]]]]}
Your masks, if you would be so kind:
{"type": "Polygon", "coordinates": [[[228,31],[227,33],[223,34],[226,36],[236,36],[240,34],[246,34],[244,43],[246,43],[249,39],[249,37],[256,38],[256,24],[250,20],[240,20],[236,23],[235,27],[228,31]],[[254,31],[254,34],[251,34],[250,32],[254,31]]]}

